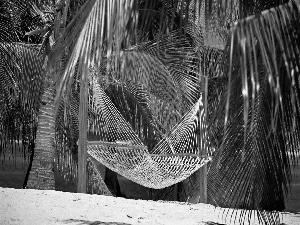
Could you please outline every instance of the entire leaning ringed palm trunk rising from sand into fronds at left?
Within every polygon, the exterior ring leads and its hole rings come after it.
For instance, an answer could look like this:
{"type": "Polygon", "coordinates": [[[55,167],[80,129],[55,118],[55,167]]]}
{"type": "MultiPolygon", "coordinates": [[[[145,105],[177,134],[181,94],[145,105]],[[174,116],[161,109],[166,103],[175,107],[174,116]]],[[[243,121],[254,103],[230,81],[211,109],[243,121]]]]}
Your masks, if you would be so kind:
{"type": "Polygon", "coordinates": [[[44,53],[45,65],[47,65],[44,93],[41,98],[35,148],[26,188],[55,190],[55,79],[62,68],[63,43],[58,42],[52,51],[50,51],[50,43],[47,43],[46,48],[49,51],[45,50],[44,53]]]}

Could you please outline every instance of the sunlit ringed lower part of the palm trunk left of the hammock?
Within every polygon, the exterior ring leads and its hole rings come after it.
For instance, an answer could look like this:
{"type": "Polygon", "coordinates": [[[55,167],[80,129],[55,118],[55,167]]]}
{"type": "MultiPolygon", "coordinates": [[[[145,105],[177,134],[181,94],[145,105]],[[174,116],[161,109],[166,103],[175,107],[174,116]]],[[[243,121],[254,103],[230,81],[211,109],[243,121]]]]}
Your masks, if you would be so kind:
{"type": "Polygon", "coordinates": [[[54,91],[47,88],[42,95],[32,167],[26,188],[54,190],[55,116],[54,91]]]}

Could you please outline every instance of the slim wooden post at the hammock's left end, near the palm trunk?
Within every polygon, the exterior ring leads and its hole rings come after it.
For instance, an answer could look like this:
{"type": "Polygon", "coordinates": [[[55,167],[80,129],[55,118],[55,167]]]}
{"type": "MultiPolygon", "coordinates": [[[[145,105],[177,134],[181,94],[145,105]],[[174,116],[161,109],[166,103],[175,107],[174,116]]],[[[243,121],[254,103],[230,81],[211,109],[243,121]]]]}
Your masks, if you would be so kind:
{"type": "Polygon", "coordinates": [[[77,192],[86,193],[87,182],[87,102],[88,102],[88,69],[83,65],[80,82],[79,102],[79,144],[78,144],[78,181],[77,192]]]}

